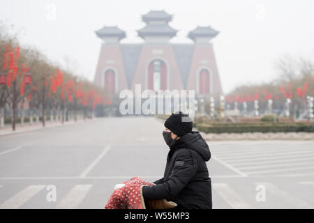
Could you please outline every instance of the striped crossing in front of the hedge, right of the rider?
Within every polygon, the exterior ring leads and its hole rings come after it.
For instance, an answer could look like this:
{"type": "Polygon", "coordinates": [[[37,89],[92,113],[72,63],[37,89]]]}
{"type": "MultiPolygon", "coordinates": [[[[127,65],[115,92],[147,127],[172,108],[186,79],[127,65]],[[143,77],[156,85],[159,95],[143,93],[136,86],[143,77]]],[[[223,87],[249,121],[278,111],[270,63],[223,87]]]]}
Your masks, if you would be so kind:
{"type": "Polygon", "coordinates": [[[248,141],[239,145],[209,142],[214,160],[240,176],[314,176],[311,141],[248,141]]]}

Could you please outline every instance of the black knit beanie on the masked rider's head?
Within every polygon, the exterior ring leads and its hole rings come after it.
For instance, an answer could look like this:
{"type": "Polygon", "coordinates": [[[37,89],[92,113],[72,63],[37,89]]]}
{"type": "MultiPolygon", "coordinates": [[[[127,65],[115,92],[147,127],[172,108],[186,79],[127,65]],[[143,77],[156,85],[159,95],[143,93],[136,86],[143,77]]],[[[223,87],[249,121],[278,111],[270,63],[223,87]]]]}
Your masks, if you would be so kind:
{"type": "Polygon", "coordinates": [[[164,125],[165,128],[181,137],[186,133],[192,132],[193,121],[187,114],[176,112],[167,118],[164,125]]]}

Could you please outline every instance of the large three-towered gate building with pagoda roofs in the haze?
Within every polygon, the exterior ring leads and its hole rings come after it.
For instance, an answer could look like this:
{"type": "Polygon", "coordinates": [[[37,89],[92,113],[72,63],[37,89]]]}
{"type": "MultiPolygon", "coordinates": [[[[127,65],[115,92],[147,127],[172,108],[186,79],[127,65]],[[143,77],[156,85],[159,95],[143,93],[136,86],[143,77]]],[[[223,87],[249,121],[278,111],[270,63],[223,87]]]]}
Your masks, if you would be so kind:
{"type": "Polygon", "coordinates": [[[222,94],[222,87],[210,40],[218,35],[211,26],[197,26],[188,33],[193,44],[172,44],[177,30],[164,10],[142,15],[146,23],[137,30],[143,44],[121,44],[126,33],[117,26],[96,31],[103,40],[94,82],[112,93],[135,91],[135,84],[152,90],[190,90],[199,96],[222,94]]]}

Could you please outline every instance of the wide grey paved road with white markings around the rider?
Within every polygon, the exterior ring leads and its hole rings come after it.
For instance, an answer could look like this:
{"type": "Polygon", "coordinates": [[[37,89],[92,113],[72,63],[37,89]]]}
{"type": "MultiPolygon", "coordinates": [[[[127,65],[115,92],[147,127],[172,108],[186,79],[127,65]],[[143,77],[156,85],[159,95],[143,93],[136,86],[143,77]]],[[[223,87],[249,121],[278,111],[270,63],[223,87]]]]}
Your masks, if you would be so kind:
{"type": "MultiPolygon", "coordinates": [[[[162,176],[162,130],[155,118],[101,118],[1,136],[0,208],[103,208],[114,184],[162,176]]],[[[208,144],[214,208],[314,207],[313,141],[208,144]]]]}

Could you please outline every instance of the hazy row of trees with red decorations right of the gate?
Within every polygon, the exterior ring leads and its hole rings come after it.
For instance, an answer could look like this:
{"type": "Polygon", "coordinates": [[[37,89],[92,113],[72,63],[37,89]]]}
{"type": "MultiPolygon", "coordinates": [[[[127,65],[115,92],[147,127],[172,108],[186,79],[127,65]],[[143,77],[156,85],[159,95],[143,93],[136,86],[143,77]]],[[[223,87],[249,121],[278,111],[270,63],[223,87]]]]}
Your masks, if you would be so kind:
{"type": "Polygon", "coordinates": [[[229,105],[243,109],[243,102],[253,109],[258,100],[260,108],[267,109],[267,101],[273,102],[276,111],[282,111],[290,99],[290,116],[296,118],[307,107],[307,96],[314,95],[314,61],[285,56],[276,63],[278,77],[263,84],[243,84],[225,96],[229,105]],[[251,102],[251,103],[249,103],[251,102]]]}

